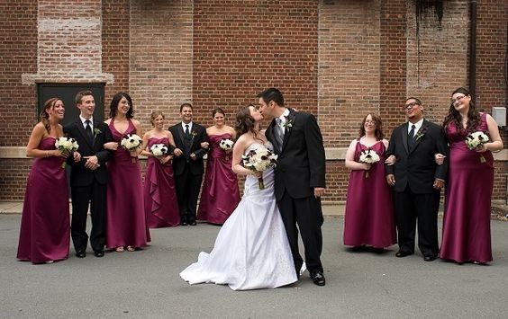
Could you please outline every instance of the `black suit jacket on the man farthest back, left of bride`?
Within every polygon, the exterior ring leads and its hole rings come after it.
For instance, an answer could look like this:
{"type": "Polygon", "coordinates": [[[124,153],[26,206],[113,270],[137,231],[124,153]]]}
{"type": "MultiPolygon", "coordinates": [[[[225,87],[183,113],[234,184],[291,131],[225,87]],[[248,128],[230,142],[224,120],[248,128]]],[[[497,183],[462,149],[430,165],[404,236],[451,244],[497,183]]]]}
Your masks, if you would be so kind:
{"type": "Polygon", "coordinates": [[[184,139],[184,128],[182,128],[182,122],[178,122],[174,126],[169,128],[173,138],[175,139],[175,145],[177,148],[184,152],[183,155],[173,157],[173,171],[176,175],[184,173],[186,165],[188,165],[190,172],[193,175],[199,175],[204,173],[203,156],[207,150],[201,147],[202,142],[208,141],[206,135],[206,128],[197,124],[192,123],[192,139],[189,143],[186,143],[184,139]],[[190,158],[191,154],[195,154],[195,160],[190,158]]]}

